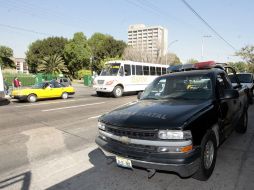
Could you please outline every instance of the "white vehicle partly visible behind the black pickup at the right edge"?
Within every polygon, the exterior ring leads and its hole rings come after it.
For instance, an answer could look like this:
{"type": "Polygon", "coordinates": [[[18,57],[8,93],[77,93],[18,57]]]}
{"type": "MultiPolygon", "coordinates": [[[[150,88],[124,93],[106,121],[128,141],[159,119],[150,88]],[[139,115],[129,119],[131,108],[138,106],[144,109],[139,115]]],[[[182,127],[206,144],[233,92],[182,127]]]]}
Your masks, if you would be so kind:
{"type": "MultiPolygon", "coordinates": [[[[254,90],[254,79],[253,79],[253,74],[252,73],[237,73],[236,74],[239,82],[246,86],[249,89],[248,93],[248,98],[249,98],[249,103],[253,103],[253,90],[254,90]]],[[[234,77],[234,75],[229,75],[229,78],[233,84],[233,86],[237,85],[237,79],[234,77]]]]}

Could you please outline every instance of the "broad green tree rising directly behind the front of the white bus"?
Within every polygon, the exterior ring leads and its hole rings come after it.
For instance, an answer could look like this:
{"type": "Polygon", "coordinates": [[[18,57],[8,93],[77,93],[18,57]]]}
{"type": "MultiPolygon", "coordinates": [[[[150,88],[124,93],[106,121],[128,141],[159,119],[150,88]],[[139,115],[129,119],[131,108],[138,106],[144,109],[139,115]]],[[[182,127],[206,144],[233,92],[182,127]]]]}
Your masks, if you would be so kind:
{"type": "Polygon", "coordinates": [[[126,43],[122,40],[115,40],[112,36],[94,33],[88,40],[89,47],[92,52],[92,69],[99,70],[102,60],[107,58],[121,58],[126,43]]]}

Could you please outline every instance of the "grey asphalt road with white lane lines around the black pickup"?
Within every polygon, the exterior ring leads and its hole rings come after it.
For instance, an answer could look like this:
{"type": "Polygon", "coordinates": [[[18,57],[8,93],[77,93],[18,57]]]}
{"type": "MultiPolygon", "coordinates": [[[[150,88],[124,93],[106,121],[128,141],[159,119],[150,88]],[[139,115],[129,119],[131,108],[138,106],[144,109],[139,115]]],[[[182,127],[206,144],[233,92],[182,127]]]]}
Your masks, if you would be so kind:
{"type": "Polygon", "coordinates": [[[0,189],[254,189],[254,108],[246,134],[219,148],[211,178],[200,182],[172,173],[119,168],[97,148],[97,118],[135,101],[136,95],[99,98],[78,85],[68,100],[0,107],[0,189]]]}

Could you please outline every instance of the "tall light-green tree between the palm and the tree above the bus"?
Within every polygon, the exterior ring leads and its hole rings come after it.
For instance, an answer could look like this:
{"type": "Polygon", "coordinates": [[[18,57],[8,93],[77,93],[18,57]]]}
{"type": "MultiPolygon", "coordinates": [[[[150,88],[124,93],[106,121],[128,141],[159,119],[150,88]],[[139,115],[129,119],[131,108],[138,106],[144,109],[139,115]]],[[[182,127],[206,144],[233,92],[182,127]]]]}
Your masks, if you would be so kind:
{"type": "Polygon", "coordinates": [[[82,32],[75,33],[73,39],[65,45],[64,58],[72,77],[77,77],[80,69],[90,67],[91,50],[82,32]]]}

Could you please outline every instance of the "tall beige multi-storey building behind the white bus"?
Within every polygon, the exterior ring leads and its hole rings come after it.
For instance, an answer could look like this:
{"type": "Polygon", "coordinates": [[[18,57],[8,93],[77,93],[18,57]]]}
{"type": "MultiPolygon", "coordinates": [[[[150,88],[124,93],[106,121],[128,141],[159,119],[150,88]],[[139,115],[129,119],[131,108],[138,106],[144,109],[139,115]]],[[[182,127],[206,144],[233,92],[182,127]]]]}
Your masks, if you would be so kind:
{"type": "Polygon", "coordinates": [[[151,56],[152,62],[156,62],[158,57],[167,54],[168,30],[161,26],[130,25],[128,45],[151,56]]]}

